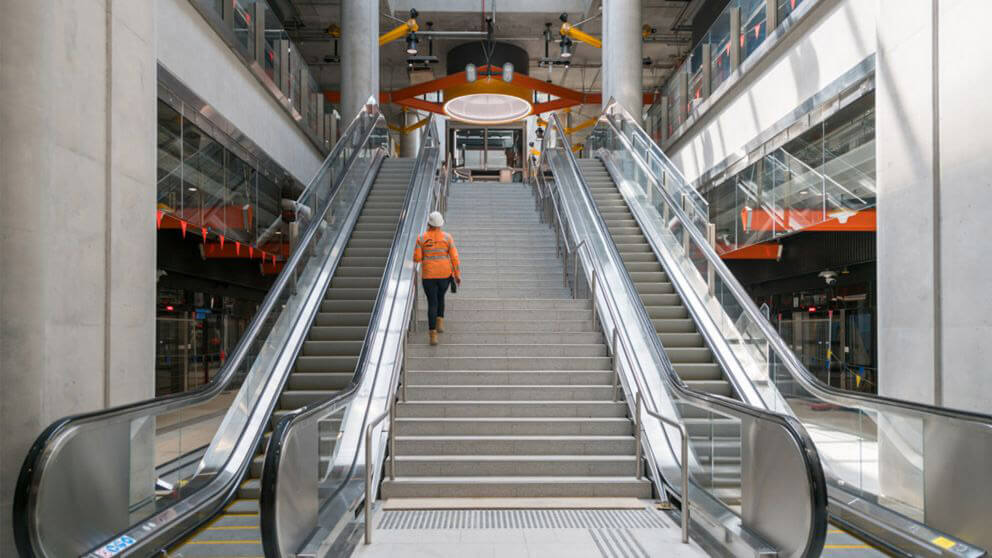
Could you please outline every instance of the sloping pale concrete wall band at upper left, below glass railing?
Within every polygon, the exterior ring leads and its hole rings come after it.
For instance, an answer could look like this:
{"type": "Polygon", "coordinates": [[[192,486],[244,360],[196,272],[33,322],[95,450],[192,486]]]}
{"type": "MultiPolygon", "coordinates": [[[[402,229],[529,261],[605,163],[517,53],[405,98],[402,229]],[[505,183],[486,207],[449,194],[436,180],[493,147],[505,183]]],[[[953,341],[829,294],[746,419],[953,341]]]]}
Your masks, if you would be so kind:
{"type": "Polygon", "coordinates": [[[309,181],[323,157],[190,0],[155,4],[158,61],[297,180],[309,181]]]}

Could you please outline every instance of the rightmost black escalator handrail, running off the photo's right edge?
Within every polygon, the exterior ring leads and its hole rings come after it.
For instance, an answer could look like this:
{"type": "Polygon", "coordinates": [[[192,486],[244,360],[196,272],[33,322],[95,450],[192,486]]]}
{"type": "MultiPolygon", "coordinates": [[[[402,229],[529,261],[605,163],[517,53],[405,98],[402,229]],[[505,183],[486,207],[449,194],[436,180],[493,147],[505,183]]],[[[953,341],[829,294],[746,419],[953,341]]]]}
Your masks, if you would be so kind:
{"type": "MultiPolygon", "coordinates": [[[[627,142],[626,136],[617,130],[613,122],[606,117],[607,111],[611,109],[622,111],[629,118],[629,114],[626,113],[623,107],[611,100],[606,109],[604,109],[603,115],[600,117],[600,122],[612,128],[620,140],[624,142],[628,149],[630,149],[630,152],[634,155],[634,161],[637,165],[649,176],[652,176],[655,180],[658,180],[658,177],[651,172],[650,166],[641,160],[637,152],[630,146],[629,142],[627,142]]],[[[689,216],[682,210],[680,205],[676,203],[676,200],[671,198],[669,192],[667,192],[664,188],[658,188],[658,191],[662,196],[665,196],[668,204],[672,208],[674,216],[676,216],[684,224],[692,222],[689,219],[689,216]]],[[[727,267],[720,256],[716,253],[716,250],[710,245],[709,242],[706,241],[702,233],[692,226],[685,226],[684,228],[689,231],[696,247],[715,270],[717,276],[726,284],[737,303],[740,304],[743,311],[747,313],[748,318],[750,318],[751,321],[759,327],[762,334],[768,339],[770,346],[782,360],[783,364],[785,364],[786,368],[789,370],[789,373],[795,377],[804,388],[813,394],[831,403],[847,407],[861,407],[869,411],[888,409],[916,416],[938,415],[955,420],[978,423],[979,425],[992,428],[992,415],[947,407],[938,407],[935,405],[928,405],[926,403],[906,401],[883,395],[868,395],[858,392],[851,392],[835,388],[824,383],[822,380],[814,376],[802,364],[802,362],[799,361],[798,357],[796,357],[795,353],[789,349],[789,347],[785,344],[785,341],[781,338],[781,336],[779,336],[778,332],[772,328],[771,323],[761,315],[761,311],[758,310],[758,306],[747,294],[747,291],[737,280],[737,277],[730,271],[730,268],[727,267]]]]}

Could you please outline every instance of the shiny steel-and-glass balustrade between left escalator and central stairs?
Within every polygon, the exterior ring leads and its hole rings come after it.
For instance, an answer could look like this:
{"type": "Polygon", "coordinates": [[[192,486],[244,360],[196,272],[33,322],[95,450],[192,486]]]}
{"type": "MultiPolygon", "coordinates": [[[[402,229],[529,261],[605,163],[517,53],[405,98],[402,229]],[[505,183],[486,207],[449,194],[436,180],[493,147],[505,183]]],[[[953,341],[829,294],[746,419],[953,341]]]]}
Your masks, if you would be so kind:
{"type": "MultiPolygon", "coordinates": [[[[267,558],[296,556],[321,545],[348,528],[358,506],[366,517],[375,500],[379,475],[392,428],[397,385],[405,362],[407,332],[415,323],[417,268],[413,249],[428,213],[443,207],[446,176],[435,181],[440,153],[437,122],[428,122],[421,139],[393,250],[389,255],[369,332],[350,386],[334,398],[309,405],[280,420],[272,434],[262,473],[262,546],[267,558]],[[333,455],[320,454],[319,423],[341,416],[333,455]],[[387,421],[392,424],[392,420],[387,421]],[[363,445],[363,439],[367,442],[363,445]],[[371,442],[371,445],[368,445],[371,442]],[[321,478],[317,463],[331,459],[321,478]]],[[[366,532],[371,524],[366,523],[366,532]]]]}

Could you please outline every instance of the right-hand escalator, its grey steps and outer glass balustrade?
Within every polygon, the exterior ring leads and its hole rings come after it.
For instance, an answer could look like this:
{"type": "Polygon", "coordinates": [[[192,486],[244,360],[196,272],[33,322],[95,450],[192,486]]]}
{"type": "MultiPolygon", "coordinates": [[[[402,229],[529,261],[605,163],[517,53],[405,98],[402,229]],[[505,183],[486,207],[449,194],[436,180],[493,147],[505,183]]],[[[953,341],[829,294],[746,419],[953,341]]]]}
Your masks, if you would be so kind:
{"type": "MultiPolygon", "coordinates": [[[[894,555],[987,555],[992,482],[975,462],[992,454],[992,417],[846,392],[813,376],[717,255],[684,178],[645,138],[611,104],[574,186],[595,199],[680,379],[798,420],[819,450],[836,525],[894,555]]],[[[748,435],[686,411],[679,420],[695,430],[703,466],[694,475],[734,505],[754,481],[737,465],[748,435]]]]}

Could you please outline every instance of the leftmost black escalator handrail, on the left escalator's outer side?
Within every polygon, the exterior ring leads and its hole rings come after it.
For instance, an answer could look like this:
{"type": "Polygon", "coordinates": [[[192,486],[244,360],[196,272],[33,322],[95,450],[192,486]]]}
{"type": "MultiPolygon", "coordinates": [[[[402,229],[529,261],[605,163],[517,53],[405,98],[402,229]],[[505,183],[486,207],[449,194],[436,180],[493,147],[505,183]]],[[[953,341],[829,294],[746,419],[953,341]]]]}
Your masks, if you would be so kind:
{"type": "MultiPolygon", "coordinates": [[[[345,130],[345,133],[341,136],[341,139],[334,146],[334,149],[331,150],[331,153],[328,154],[327,158],[325,158],[324,163],[314,174],[313,178],[310,180],[311,185],[318,182],[325,170],[328,168],[328,165],[331,164],[332,160],[335,157],[340,156],[346,142],[355,141],[356,145],[364,145],[380,123],[385,125],[385,118],[379,112],[378,104],[375,99],[370,98],[363,111],[355,117],[351,124],[349,124],[348,128],[345,130]],[[369,128],[368,130],[364,130],[361,128],[361,125],[362,122],[368,118],[371,119],[369,121],[369,128]],[[362,133],[363,131],[364,133],[362,133]],[[358,139],[360,139],[360,141],[357,141],[358,139]]],[[[343,178],[348,174],[348,171],[354,164],[357,154],[358,151],[356,150],[349,156],[343,165],[344,172],[340,173],[337,177],[336,183],[331,185],[328,200],[325,202],[324,208],[321,211],[322,215],[331,207],[335,196],[340,190],[340,185],[343,182],[343,178]]],[[[317,231],[320,229],[321,221],[322,218],[314,218],[311,220],[310,225],[300,240],[301,246],[308,245],[314,239],[317,231]]],[[[303,261],[305,253],[306,250],[295,250],[290,255],[290,258],[287,260],[282,271],[279,273],[279,276],[276,278],[272,287],[269,289],[269,292],[266,294],[266,297],[260,305],[258,311],[249,323],[244,335],[242,335],[241,339],[238,341],[234,351],[231,352],[230,358],[224,362],[217,375],[211,378],[206,384],[185,393],[166,395],[163,397],[156,397],[144,401],[111,407],[109,409],[63,417],[53,422],[45,428],[44,431],[42,431],[42,433],[31,445],[31,448],[28,450],[27,456],[24,459],[24,463],[18,475],[17,485],[14,489],[12,517],[14,541],[22,556],[35,555],[33,544],[34,537],[32,534],[32,526],[34,525],[34,522],[30,519],[30,515],[34,507],[34,496],[37,494],[37,488],[41,481],[41,476],[44,474],[45,460],[51,453],[49,451],[50,448],[58,445],[60,440],[62,440],[65,436],[70,435],[76,429],[82,428],[87,424],[120,422],[142,416],[157,416],[175,409],[181,409],[208,401],[221,394],[234,380],[245,358],[249,355],[252,346],[256,343],[256,341],[258,341],[258,337],[263,332],[265,327],[266,319],[279,305],[279,299],[283,292],[290,287],[291,282],[294,279],[294,271],[303,261]]]]}

